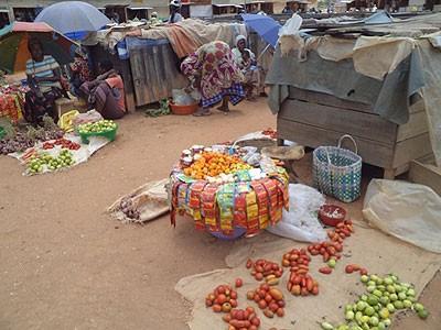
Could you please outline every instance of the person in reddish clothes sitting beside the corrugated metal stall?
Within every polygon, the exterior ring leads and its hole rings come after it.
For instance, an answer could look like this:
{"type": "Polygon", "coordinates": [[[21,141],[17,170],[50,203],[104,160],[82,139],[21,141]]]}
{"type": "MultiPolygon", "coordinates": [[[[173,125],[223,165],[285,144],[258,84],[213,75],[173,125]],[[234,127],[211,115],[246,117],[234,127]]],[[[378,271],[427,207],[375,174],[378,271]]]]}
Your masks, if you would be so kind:
{"type": "Polygon", "coordinates": [[[80,96],[105,119],[119,119],[127,112],[122,78],[108,59],[98,64],[98,72],[95,80],[79,87],[80,96]]]}

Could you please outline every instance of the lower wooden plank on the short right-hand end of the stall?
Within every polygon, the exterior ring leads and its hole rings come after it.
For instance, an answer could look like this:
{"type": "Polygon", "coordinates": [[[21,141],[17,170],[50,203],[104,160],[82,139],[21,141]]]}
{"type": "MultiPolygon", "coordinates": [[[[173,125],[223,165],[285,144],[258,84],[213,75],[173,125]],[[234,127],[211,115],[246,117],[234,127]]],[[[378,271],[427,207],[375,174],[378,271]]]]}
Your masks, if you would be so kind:
{"type": "Polygon", "coordinates": [[[431,152],[432,146],[430,144],[429,133],[423,133],[398,142],[395,146],[392,167],[399,167],[431,152]]]}

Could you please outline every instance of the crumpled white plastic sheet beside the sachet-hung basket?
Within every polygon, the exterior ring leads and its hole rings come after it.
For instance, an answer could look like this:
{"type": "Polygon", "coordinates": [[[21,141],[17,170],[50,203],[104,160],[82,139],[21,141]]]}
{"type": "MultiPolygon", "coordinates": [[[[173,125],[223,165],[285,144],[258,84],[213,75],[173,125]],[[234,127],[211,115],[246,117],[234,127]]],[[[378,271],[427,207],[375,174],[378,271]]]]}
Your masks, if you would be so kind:
{"type": "Polygon", "coordinates": [[[324,241],[326,231],[318,220],[319,208],[325,204],[323,195],[309,186],[291,184],[289,196],[289,211],[283,210],[282,220],[267,230],[294,241],[324,241]]]}

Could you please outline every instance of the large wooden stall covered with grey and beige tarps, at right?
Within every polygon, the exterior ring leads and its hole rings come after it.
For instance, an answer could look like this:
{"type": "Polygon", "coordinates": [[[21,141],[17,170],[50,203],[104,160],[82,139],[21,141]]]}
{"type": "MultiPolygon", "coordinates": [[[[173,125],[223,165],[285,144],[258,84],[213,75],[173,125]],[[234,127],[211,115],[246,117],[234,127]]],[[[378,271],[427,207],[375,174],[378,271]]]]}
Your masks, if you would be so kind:
{"type": "Polygon", "coordinates": [[[279,138],[316,147],[351,134],[386,177],[431,154],[439,164],[439,22],[432,14],[281,37],[267,77],[279,138]]]}

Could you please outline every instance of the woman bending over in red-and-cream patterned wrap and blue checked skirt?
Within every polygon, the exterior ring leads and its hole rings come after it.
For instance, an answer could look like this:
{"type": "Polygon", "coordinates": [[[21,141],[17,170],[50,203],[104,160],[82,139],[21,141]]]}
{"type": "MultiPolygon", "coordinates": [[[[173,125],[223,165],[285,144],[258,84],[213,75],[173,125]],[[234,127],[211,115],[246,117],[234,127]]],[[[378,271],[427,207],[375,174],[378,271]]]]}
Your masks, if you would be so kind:
{"type": "Polygon", "coordinates": [[[217,109],[227,113],[228,101],[235,106],[245,97],[244,75],[224,42],[214,41],[201,46],[182,62],[181,72],[191,81],[190,87],[201,94],[202,107],[194,116],[211,114],[209,108],[219,102],[222,106],[217,109]]]}

